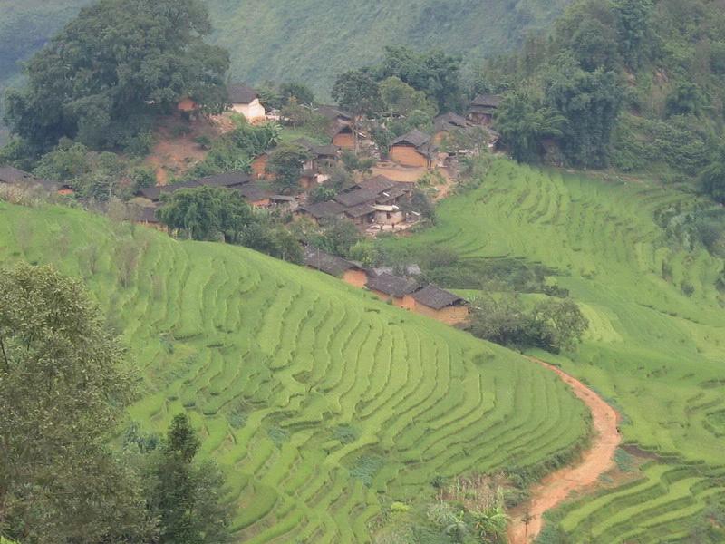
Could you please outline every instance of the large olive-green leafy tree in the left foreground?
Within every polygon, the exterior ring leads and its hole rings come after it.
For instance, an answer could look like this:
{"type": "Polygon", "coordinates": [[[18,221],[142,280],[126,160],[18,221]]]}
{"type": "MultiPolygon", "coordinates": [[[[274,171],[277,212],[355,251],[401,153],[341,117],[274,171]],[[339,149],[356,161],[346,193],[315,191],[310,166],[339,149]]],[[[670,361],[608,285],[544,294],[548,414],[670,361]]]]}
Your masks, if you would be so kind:
{"type": "Polygon", "coordinates": [[[134,380],[82,283],[0,275],[0,512],[36,544],[149,541],[140,481],[107,443],[134,380]]]}

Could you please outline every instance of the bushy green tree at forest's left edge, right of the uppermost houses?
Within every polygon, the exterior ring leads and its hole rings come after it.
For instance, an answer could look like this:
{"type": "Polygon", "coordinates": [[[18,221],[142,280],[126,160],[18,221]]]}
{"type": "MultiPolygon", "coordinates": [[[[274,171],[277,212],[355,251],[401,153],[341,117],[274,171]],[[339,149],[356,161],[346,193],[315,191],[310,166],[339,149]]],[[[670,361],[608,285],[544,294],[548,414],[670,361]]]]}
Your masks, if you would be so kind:
{"type": "Polygon", "coordinates": [[[521,93],[507,95],[496,114],[496,128],[511,156],[521,162],[538,160],[541,141],[560,138],[566,119],[558,112],[534,103],[521,93]]]}

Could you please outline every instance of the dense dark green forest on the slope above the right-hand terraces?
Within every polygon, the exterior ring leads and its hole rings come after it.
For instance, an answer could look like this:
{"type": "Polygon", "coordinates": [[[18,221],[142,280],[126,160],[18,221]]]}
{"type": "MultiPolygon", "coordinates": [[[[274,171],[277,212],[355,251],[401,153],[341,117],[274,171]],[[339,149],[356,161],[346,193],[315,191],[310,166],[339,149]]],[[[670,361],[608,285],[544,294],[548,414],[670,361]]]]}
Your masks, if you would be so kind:
{"type": "Polygon", "coordinates": [[[497,121],[519,160],[539,160],[548,139],[576,166],[693,178],[720,146],[723,55],[717,2],[580,0],[481,77],[527,97],[505,102],[497,121]],[[539,130],[552,113],[566,120],[561,134],[539,130]]]}

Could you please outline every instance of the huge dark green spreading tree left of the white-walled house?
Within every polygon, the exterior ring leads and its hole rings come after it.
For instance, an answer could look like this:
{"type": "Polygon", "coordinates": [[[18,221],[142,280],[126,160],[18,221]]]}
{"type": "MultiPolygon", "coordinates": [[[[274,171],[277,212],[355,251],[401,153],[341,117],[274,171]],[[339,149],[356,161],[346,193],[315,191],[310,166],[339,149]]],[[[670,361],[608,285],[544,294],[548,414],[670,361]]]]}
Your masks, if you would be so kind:
{"type": "Polygon", "coordinates": [[[204,42],[210,32],[199,0],[101,0],[27,63],[6,121],[39,148],[62,136],[98,148],[128,141],[183,95],[220,111],[229,59],[204,42]]]}

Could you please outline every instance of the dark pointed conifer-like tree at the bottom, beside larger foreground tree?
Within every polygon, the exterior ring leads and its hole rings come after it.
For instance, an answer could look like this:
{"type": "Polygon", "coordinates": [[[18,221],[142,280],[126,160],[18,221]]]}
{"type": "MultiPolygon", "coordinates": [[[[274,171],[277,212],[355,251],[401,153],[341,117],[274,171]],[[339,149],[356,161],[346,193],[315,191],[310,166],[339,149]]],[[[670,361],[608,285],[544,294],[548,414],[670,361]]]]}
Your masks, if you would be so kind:
{"type": "Polygon", "coordinates": [[[160,520],[160,544],[217,544],[229,541],[223,478],[211,463],[194,463],[201,442],[186,413],[169,426],[166,441],[150,463],[149,505],[160,520]]]}

